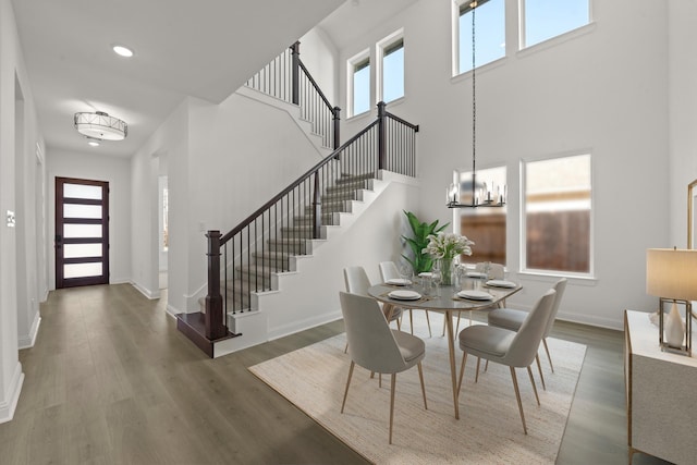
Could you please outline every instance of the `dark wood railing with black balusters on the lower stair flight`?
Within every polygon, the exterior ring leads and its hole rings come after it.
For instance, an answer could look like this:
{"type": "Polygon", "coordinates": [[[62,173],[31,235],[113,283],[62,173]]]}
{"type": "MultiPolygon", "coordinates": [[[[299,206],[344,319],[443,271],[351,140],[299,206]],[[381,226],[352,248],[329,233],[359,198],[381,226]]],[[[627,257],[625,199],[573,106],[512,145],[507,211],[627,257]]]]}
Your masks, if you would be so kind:
{"type": "Polygon", "coordinates": [[[321,237],[321,227],[346,211],[346,200],[357,199],[379,170],[416,176],[417,132],[418,125],[380,102],[372,123],[232,231],[208,231],[206,335],[229,334],[228,314],[249,310],[252,294],[270,291],[273,274],[290,269],[292,255],[310,253],[308,242],[321,237]]]}

